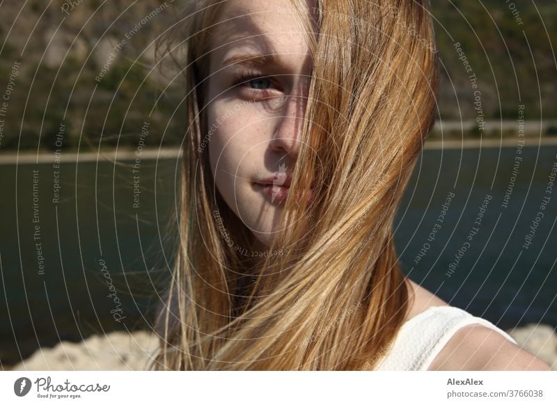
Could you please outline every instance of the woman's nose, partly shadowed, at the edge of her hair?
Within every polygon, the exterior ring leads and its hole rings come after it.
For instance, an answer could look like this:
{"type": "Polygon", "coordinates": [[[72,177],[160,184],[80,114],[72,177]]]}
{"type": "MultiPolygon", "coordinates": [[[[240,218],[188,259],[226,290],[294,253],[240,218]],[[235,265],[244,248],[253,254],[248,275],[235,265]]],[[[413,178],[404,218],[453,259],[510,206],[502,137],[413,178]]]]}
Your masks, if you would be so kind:
{"type": "Polygon", "coordinates": [[[274,129],[271,148],[276,152],[286,152],[291,157],[297,157],[301,130],[304,125],[307,99],[304,95],[285,96],[281,116],[274,129]]]}

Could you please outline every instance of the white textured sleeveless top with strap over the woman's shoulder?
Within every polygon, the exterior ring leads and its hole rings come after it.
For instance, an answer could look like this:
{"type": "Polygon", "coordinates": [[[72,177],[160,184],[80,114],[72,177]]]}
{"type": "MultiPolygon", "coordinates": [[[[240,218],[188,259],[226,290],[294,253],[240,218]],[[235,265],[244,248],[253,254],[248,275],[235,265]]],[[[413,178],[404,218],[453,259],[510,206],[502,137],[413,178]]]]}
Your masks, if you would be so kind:
{"type": "Polygon", "coordinates": [[[463,326],[481,324],[501,333],[517,344],[508,333],[487,319],[450,305],[433,306],[408,319],[398,331],[388,352],[377,363],[375,370],[427,370],[450,337],[463,326]]]}

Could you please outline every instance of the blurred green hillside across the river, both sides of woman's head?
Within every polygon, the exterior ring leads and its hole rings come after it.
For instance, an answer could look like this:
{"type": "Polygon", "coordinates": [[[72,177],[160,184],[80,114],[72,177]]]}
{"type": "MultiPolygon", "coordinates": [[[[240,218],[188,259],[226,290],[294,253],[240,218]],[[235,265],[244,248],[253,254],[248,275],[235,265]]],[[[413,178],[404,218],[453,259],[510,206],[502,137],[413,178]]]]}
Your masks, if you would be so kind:
{"type": "MultiPolygon", "coordinates": [[[[0,6],[0,93],[13,87],[0,116],[0,152],[133,149],[143,122],[150,122],[146,145],[180,145],[182,93],[179,85],[166,86],[152,44],[175,18],[173,6],[157,0],[47,4],[0,6]]],[[[557,118],[556,1],[434,1],[432,13],[441,57],[439,118],[476,118],[455,42],[478,79],[485,119],[516,120],[519,104],[527,120],[557,118]]]]}

